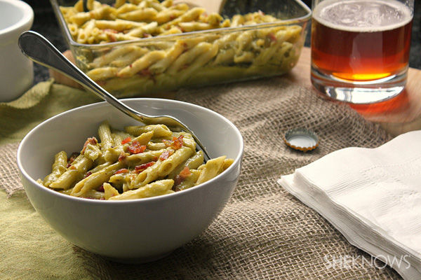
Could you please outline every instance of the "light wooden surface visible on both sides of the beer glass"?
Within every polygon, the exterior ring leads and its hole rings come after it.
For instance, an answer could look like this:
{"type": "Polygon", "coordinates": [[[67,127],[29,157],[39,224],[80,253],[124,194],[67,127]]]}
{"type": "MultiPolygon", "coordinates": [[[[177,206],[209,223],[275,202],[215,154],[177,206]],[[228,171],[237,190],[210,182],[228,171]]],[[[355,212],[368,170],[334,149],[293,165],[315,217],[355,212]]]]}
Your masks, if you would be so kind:
{"type": "MultiPolygon", "coordinates": [[[[298,64],[286,74],[294,83],[312,85],[309,48],[303,48],[298,64]]],[[[313,90],[315,94],[316,89],[313,90]]],[[[349,105],[367,120],[379,123],[393,136],[421,129],[421,70],[410,68],[406,89],[397,97],[368,105],[349,105]]]]}

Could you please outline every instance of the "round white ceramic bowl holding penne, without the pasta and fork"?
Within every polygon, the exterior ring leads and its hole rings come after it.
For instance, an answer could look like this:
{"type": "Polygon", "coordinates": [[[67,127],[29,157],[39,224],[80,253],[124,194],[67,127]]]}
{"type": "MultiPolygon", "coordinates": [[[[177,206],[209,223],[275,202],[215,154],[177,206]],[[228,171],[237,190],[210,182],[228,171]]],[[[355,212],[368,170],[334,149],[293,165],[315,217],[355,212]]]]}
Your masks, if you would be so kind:
{"type": "Polygon", "coordinates": [[[35,127],[18,148],[18,167],[32,205],[62,237],[117,262],[149,262],[191,241],[217,218],[239,179],[243,139],[229,120],[200,106],[169,99],[123,102],[143,113],[179,118],[201,139],[212,158],[227,155],[234,163],[200,186],[121,202],[63,195],[36,183],[51,172],[55,153],[79,151],[87,137],[97,135],[102,120],[119,129],[138,124],[100,102],[61,113],[35,127]]]}

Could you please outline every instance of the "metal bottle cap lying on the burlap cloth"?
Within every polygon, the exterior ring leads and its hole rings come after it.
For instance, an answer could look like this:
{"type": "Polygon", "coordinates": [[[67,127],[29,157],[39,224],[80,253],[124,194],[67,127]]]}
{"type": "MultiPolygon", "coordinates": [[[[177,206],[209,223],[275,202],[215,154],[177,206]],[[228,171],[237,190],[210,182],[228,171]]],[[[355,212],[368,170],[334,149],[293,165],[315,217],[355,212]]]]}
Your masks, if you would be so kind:
{"type": "Polygon", "coordinates": [[[295,150],[307,152],[319,146],[319,137],[312,130],[306,128],[294,128],[288,130],[283,136],[286,145],[295,150]]]}

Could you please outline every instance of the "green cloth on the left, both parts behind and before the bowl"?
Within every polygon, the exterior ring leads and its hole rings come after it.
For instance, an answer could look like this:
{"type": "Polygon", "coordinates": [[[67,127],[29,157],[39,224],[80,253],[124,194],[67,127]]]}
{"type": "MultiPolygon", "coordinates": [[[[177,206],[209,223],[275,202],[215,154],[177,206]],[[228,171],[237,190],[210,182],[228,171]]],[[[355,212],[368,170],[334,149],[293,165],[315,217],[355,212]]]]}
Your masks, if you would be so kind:
{"type": "MultiPolygon", "coordinates": [[[[17,145],[44,120],[98,101],[100,99],[90,92],[56,84],[53,79],[38,83],[13,102],[0,103],[0,146],[17,145]]],[[[13,158],[7,160],[11,165],[14,163],[11,162],[13,158]]],[[[95,265],[86,258],[90,254],[83,251],[82,258],[81,250],[57,235],[36,213],[24,192],[13,193],[11,198],[3,188],[0,189],[0,213],[3,214],[0,218],[0,244],[8,244],[0,248],[0,279],[42,279],[43,275],[48,275],[49,279],[95,277],[95,269],[87,267],[95,265]],[[39,258],[39,255],[50,255],[51,258],[39,258]],[[94,273],[87,275],[91,270],[94,273]]]]}

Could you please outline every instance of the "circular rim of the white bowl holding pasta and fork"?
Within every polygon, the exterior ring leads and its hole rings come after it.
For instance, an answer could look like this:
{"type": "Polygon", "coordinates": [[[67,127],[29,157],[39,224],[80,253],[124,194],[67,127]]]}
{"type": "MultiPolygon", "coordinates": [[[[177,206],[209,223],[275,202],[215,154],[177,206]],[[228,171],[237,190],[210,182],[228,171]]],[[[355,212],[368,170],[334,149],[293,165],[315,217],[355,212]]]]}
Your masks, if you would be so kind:
{"type": "MultiPolygon", "coordinates": [[[[83,106],[79,106],[76,107],[74,109],[69,109],[67,111],[64,111],[62,113],[59,113],[51,118],[48,118],[46,120],[44,120],[42,123],[39,123],[39,125],[36,125],[36,127],[34,127],[32,130],[30,130],[25,137],[22,139],[22,141],[20,141],[20,144],[18,146],[18,151],[16,153],[16,163],[18,165],[18,170],[20,172],[20,176],[24,176],[25,179],[27,181],[29,181],[30,183],[32,183],[32,185],[35,186],[35,188],[39,188],[42,191],[45,191],[46,193],[49,193],[53,196],[57,196],[59,199],[65,199],[65,200],[69,200],[69,201],[74,201],[74,202],[78,202],[78,203],[109,203],[109,204],[133,204],[133,203],[149,203],[149,202],[156,202],[156,201],[160,201],[160,200],[168,200],[171,199],[171,197],[175,197],[175,196],[182,196],[182,195],[187,195],[190,192],[195,192],[196,189],[199,188],[206,188],[210,183],[212,183],[213,181],[220,179],[224,176],[228,176],[229,171],[234,169],[237,165],[240,165],[241,167],[241,160],[243,158],[243,153],[244,153],[244,139],[243,136],[241,135],[241,132],[239,131],[239,129],[227,118],[225,118],[225,116],[222,116],[220,113],[217,113],[213,110],[207,109],[206,107],[203,106],[199,106],[196,104],[192,104],[189,102],[182,102],[182,101],[178,101],[178,100],[174,100],[174,99],[161,99],[161,98],[128,98],[128,99],[121,99],[122,102],[135,102],[135,101],[142,101],[142,102],[164,102],[167,104],[184,104],[187,106],[193,106],[202,110],[207,111],[208,113],[212,113],[215,114],[217,116],[219,116],[220,118],[222,118],[222,120],[225,120],[225,122],[234,129],[234,132],[236,132],[236,134],[239,135],[239,139],[240,139],[240,147],[239,147],[239,155],[236,156],[236,158],[234,158],[234,162],[232,163],[232,165],[230,167],[228,167],[225,172],[222,172],[222,174],[219,174],[218,176],[214,177],[213,179],[210,179],[209,181],[206,181],[205,183],[201,183],[199,186],[194,186],[192,188],[188,188],[187,190],[182,190],[179,192],[175,192],[175,193],[171,193],[169,195],[159,195],[156,197],[145,197],[142,199],[138,199],[138,200],[92,200],[92,199],[86,199],[83,197],[74,197],[72,195],[65,195],[63,193],[59,193],[58,191],[55,190],[51,190],[50,188],[46,188],[45,186],[41,186],[39,185],[39,183],[36,182],[35,179],[32,178],[32,176],[29,176],[29,174],[27,174],[27,172],[25,171],[25,169],[23,168],[22,165],[22,160],[23,160],[23,154],[22,154],[22,147],[25,146],[25,143],[28,141],[29,137],[31,137],[32,134],[36,133],[36,130],[39,129],[39,127],[44,126],[46,123],[50,122],[51,120],[54,120],[56,118],[62,118],[62,116],[65,116],[69,113],[73,113],[74,111],[79,111],[81,109],[89,109],[90,107],[98,107],[98,106],[112,106],[110,104],[108,104],[107,102],[96,102],[93,104],[87,104],[87,105],[83,105],[83,106]]],[[[22,179],[21,179],[22,180],[22,179]]],[[[25,188],[25,186],[24,186],[25,188]]],[[[26,190],[25,190],[26,191],[26,190]]]]}

